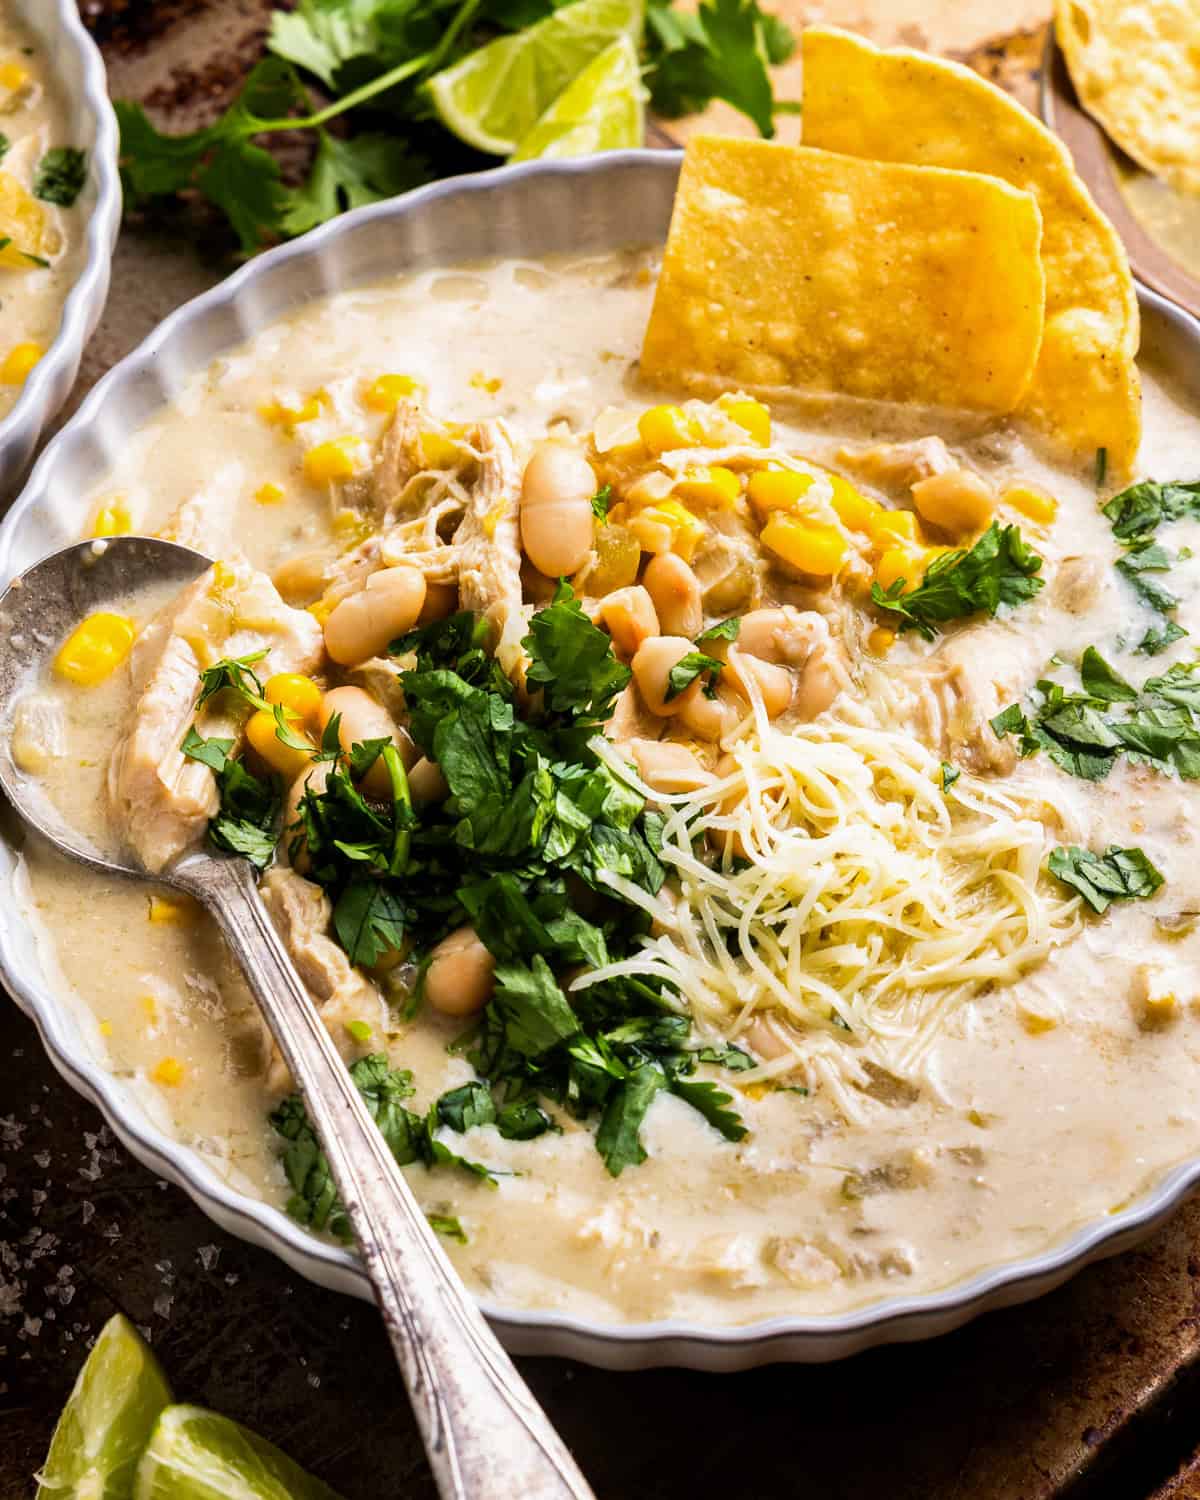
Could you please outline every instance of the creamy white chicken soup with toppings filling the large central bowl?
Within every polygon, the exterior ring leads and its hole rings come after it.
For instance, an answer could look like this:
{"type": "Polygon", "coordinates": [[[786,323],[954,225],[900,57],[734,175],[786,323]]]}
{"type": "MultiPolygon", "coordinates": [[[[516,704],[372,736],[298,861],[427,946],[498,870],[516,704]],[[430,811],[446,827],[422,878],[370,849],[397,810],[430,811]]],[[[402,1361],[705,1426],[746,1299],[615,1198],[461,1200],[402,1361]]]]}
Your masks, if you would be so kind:
{"type": "MultiPolygon", "coordinates": [[[[652,273],[429,272],[216,360],[78,516],[216,567],[90,622],[15,753],[150,868],[279,838],[264,898],[375,1102],[414,1090],[412,1186],[498,1304],[945,1287],[1200,1148],[1197,492],[1106,513],[1011,426],[646,390],[652,273]],[[488,789],[510,740],[536,774],[488,789]]],[[[1192,480],[1144,384],[1144,474],[1192,480]]],[[[204,915],[34,846],[22,886],[106,1066],[336,1230],[204,915]]]]}

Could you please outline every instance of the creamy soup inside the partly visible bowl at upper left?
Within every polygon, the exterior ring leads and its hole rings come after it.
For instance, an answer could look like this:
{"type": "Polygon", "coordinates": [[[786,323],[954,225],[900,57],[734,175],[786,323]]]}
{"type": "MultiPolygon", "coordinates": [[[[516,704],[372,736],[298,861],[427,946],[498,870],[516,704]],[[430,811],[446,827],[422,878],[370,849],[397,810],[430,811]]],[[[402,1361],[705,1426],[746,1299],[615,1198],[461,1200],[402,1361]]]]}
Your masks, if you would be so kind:
{"type": "Polygon", "coordinates": [[[51,57],[0,0],[0,417],[54,342],[80,274],[86,172],[51,57]]]}

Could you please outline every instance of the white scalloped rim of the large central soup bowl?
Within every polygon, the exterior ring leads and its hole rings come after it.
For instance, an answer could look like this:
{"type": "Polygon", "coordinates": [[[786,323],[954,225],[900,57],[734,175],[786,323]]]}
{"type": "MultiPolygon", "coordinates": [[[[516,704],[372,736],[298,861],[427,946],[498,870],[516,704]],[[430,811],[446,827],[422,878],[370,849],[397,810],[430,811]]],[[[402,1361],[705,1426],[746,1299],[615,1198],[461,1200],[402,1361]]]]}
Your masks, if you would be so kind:
{"type": "MultiPolygon", "coordinates": [[[[450,195],[495,194],[526,177],[580,180],[638,168],[662,172],[663,182],[678,176],[681,152],[626,150],[573,160],[532,160],[484,172],[444,178],[399,198],[369,204],[340,214],[298,240],[268,250],[240,267],[200,297],[170,314],[130,354],[112,366],[87,394],[80,410],[51,440],[33,468],[21,495],[0,522],[0,574],[10,570],[10,548],[28,512],[54,483],[58,454],[80,441],[111,393],[135,382],[165,345],[210,314],[237,302],[244,288],[270,270],[292,261],[320,256],[339,238],[372,219],[390,219],[420,212],[450,195]]],[[[1200,322],[1143,286],[1143,308],[1173,322],[1200,352],[1200,322]]],[[[264,327],[250,314],[250,324],[264,327]]],[[[8,846],[8,840],[0,838],[8,846]]],[[[12,852],[10,846],[8,846],[12,852]]],[[[322,1286],[369,1296],[369,1286],[350,1251],[312,1236],[282,1209],[234,1188],[192,1148],[156,1126],[134,1096],[111,1072],[87,1056],[82,1034],[74,1026],[72,1005],[56,996],[50,984],[24,972],[14,952],[12,934],[0,921],[0,978],[34,1020],[42,1042],[58,1072],[99,1106],[120,1140],[152,1170],[182,1186],[218,1224],[243,1239],[278,1254],[302,1275],[322,1286]],[[74,1035],[72,1035],[74,1032],[74,1035]]],[[[1059,1286],[1076,1270],[1102,1256],[1114,1254],[1152,1233],[1186,1194],[1200,1186],[1200,1149],[1164,1172],[1119,1214],[1078,1224],[1056,1244],[1035,1256],[1018,1256],[976,1270],[954,1284],[916,1294],[891,1296],[836,1314],[776,1314],[753,1323],[705,1324],[672,1317],[639,1323],[604,1323],[574,1312],[543,1308],[508,1308],[480,1298],[480,1306],[501,1338],[519,1353],[552,1353],[590,1360],[609,1368],[644,1368],[656,1364],[687,1364],[710,1370],[738,1370],[777,1359],[825,1360],[843,1358],[882,1342],[909,1341],[946,1332],[976,1314],[1028,1300],[1059,1286]]]]}

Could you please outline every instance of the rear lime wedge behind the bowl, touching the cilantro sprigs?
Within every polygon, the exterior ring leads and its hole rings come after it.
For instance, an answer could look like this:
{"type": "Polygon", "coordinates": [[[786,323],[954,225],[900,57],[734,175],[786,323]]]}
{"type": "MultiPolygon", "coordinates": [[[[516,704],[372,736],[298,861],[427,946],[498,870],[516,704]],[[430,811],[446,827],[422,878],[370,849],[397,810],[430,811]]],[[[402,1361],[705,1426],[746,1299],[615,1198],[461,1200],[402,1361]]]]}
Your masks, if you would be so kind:
{"type": "Polygon", "coordinates": [[[642,0],[574,0],[434,74],[441,123],[470,146],[510,156],[597,52],[642,34],[642,0]]]}

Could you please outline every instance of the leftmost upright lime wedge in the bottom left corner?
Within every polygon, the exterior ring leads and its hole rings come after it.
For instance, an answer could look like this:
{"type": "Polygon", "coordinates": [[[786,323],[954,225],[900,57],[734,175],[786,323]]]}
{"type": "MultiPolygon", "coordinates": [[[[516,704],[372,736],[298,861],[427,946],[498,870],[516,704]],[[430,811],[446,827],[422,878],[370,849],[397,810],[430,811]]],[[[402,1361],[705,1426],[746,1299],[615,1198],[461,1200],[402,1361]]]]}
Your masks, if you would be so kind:
{"type": "Polygon", "coordinates": [[[111,1317],[63,1407],[39,1500],[129,1500],[134,1470],[171,1390],[134,1324],[111,1317]]]}

